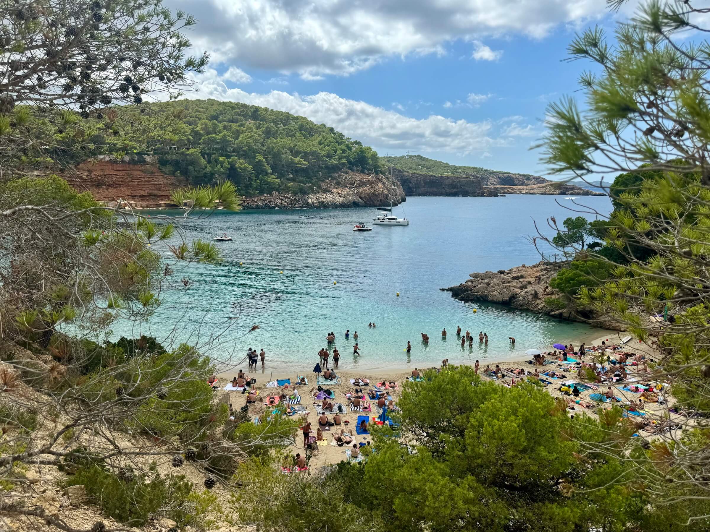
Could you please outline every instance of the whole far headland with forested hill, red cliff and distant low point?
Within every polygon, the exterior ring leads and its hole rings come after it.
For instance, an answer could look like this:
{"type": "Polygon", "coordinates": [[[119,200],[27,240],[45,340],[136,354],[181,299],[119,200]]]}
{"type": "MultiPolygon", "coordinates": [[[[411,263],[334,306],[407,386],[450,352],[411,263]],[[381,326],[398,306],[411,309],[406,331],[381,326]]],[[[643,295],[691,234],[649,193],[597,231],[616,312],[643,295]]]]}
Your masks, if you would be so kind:
{"type": "Polygon", "coordinates": [[[153,208],[170,206],[171,189],[219,179],[234,182],[242,205],[253,209],[379,206],[405,196],[599,194],[422,155],[379,157],[326,124],[265,107],[179,100],[143,108],[120,108],[116,131],[125,133],[97,138],[84,160],[56,157],[44,173],[60,173],[107,204],[153,208]]]}

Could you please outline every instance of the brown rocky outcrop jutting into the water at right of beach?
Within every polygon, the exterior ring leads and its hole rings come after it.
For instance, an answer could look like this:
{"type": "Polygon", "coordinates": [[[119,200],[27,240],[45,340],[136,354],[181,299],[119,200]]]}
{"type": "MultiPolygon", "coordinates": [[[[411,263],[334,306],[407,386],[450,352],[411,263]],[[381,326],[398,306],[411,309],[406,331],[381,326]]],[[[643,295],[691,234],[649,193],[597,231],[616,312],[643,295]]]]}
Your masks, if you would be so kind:
{"type": "Polygon", "coordinates": [[[546,298],[560,298],[562,294],[550,287],[550,279],[562,268],[562,263],[540,261],[510,270],[471,273],[466,282],[442,288],[461,301],[488,301],[523,309],[555,318],[589,323],[594,327],[624,331],[626,328],[604,316],[596,316],[589,309],[555,309],[545,304],[546,298]]]}

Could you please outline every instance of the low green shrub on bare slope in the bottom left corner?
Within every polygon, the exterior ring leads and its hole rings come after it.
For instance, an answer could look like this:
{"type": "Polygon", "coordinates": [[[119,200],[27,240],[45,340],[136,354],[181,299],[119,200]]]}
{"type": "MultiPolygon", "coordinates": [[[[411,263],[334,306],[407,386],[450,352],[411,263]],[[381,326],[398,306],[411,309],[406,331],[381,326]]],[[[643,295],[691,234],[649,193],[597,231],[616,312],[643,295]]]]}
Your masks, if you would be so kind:
{"type": "MultiPolygon", "coordinates": [[[[155,466],[151,469],[154,472],[155,466]]],[[[160,477],[155,474],[150,478],[136,475],[126,482],[101,465],[92,464],[78,469],[67,481],[68,486],[80,484],[84,485],[87,495],[104,509],[105,514],[131,526],[143,525],[151,514],[161,508],[165,508],[165,513],[170,516],[180,516],[183,522],[192,515],[184,507],[192,492],[192,483],[182,475],[160,477]]]]}

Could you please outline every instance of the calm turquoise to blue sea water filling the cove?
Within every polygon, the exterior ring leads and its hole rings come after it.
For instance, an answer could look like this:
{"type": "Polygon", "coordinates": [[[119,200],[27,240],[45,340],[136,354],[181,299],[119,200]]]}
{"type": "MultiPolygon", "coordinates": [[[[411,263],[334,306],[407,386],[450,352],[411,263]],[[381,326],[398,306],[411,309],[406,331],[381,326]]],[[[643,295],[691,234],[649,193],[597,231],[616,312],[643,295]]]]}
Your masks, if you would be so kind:
{"type": "MultiPolygon", "coordinates": [[[[197,343],[212,337],[217,358],[231,356],[235,364],[250,346],[264,348],[267,375],[283,374],[285,367],[288,374],[312,370],[329,331],[336,334],[340,366],[349,370],[428,367],[444,358],[452,363],[522,358],[530,348],[576,344],[601,331],[495,304],[464,303],[439,291],[464,282],[470,272],[538,262],[540,255],[525,240],[536,234],[533,221],[547,228],[548,216],[559,221],[578,216],[556,200],[572,206],[561,196],[411,197],[394,209],[400,217],[404,211],[410,226],[374,226],[370,233],[356,233],[352,226],[371,221],[376,209],[218,211],[206,220],[185,221],[180,225],[188,242],[224,232],[234,238],[218,244],[224,263],[178,270],[174,282],[181,286],[179,279],[189,277],[192,287],[166,288],[155,316],[133,325],[133,334],[163,339],[176,331],[173,341],[197,343]],[[299,218],[305,214],[324,219],[299,218]],[[368,328],[372,321],[376,328],[368,328]],[[258,331],[246,334],[257,324],[258,331]],[[461,348],[459,325],[476,336],[488,333],[488,345],[476,340],[473,348],[461,348]],[[440,334],[444,327],[446,340],[440,334]],[[352,354],[355,331],[360,357],[352,354]],[[421,342],[422,332],[430,336],[428,345],[421,342]],[[515,336],[515,348],[509,336],[515,336]]],[[[611,211],[606,197],[577,201],[611,211]]],[[[119,323],[114,331],[129,332],[119,323]]]]}

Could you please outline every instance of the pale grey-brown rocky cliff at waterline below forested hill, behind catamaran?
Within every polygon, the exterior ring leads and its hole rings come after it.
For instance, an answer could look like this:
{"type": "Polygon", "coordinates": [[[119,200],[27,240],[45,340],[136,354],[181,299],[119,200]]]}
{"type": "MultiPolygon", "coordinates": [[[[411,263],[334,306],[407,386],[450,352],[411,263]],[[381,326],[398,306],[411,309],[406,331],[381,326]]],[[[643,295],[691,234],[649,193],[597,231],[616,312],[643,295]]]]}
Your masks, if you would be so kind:
{"type": "Polygon", "coordinates": [[[406,201],[402,185],[383,175],[342,172],[320,184],[312,194],[274,192],[243,198],[245,209],[334,209],[344,207],[377,207],[406,201]]]}

